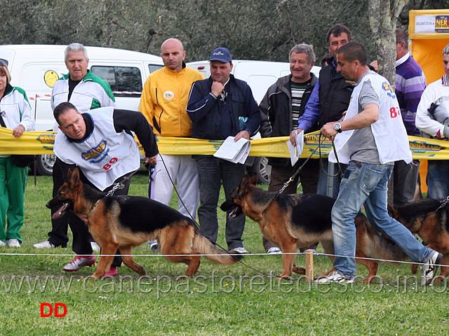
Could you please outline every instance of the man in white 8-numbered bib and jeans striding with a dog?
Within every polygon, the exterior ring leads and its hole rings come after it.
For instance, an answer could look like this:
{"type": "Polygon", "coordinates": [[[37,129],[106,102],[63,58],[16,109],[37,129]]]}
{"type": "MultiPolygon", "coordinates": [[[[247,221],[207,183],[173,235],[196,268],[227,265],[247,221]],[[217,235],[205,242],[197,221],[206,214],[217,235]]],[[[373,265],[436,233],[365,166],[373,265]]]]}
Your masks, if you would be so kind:
{"type": "MultiPolygon", "coordinates": [[[[344,78],[355,80],[357,85],[344,120],[327,123],[321,128],[323,136],[335,136],[337,158],[349,166],[332,210],[336,270],[319,279],[319,283],[354,282],[354,218],[364,205],[376,230],[398,244],[411,260],[424,263],[421,283],[425,286],[434,278],[443,255],[423,246],[387,211],[387,183],[394,162],[412,162],[394,89],[386,78],[370,71],[365,49],[359,43],[350,42],[337,50],[337,70],[344,78]]],[[[329,160],[337,162],[333,152],[329,160]]]]}

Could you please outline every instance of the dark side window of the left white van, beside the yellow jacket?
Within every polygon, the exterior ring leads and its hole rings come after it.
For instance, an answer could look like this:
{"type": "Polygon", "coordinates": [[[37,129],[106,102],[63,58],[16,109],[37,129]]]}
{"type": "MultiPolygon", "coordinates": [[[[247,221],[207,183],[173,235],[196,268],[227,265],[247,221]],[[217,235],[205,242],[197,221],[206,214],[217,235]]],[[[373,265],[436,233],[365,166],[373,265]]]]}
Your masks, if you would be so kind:
{"type": "Polygon", "coordinates": [[[142,76],[134,66],[92,66],[91,71],[109,84],[115,97],[140,97],[142,76]]]}

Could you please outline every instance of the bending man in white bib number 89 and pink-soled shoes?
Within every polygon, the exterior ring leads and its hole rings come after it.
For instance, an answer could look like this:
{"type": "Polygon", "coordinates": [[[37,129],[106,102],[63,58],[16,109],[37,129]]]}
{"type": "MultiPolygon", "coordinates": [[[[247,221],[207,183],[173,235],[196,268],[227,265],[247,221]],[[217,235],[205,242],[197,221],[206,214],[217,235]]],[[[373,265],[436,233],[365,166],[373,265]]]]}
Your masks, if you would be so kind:
{"type": "MultiPolygon", "coordinates": [[[[152,128],[142,113],[104,107],[95,113],[80,113],[69,102],[55,107],[53,116],[59,129],[55,137],[55,152],[62,176],[67,179],[68,169],[79,167],[81,181],[93,188],[114,195],[127,195],[131,175],[140,167],[140,153],[134,132],[145,150],[145,162],[156,163],[159,153],[152,128]]],[[[93,265],[87,226],[79,218],[70,218],[73,233],[73,251],[76,258],[63,269],[77,271],[83,266],[93,265]]],[[[107,276],[117,274],[116,266],[121,259],[116,257],[107,276]]]]}

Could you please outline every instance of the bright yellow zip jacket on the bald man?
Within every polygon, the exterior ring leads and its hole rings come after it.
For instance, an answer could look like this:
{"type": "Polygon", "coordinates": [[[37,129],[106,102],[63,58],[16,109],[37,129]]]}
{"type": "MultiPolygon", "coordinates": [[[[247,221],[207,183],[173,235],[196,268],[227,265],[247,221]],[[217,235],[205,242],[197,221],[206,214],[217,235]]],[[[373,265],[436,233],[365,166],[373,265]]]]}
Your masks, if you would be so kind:
{"type": "Polygon", "coordinates": [[[194,69],[185,67],[179,72],[168,69],[154,71],[145,81],[139,111],[162,137],[190,137],[192,120],[185,108],[190,88],[196,80],[204,79],[194,69]]]}

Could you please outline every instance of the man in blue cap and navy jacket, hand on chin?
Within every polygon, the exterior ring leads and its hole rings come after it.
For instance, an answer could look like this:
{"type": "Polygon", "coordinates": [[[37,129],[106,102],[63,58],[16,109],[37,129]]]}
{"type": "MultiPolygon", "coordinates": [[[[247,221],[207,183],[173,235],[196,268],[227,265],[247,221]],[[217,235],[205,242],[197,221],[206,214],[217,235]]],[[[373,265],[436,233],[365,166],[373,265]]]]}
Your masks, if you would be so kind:
{"type": "MultiPolygon", "coordinates": [[[[192,85],[187,113],[192,119],[192,137],[221,140],[229,136],[235,141],[250,139],[260,127],[260,113],[250,87],[234,78],[231,52],[217,48],[210,55],[210,77],[192,85]]],[[[200,206],[198,218],[204,235],[217,241],[217,204],[223,183],[225,195],[239,186],[245,165],[232,163],[213,155],[194,155],[199,173],[200,206]]],[[[245,216],[226,221],[226,241],[229,250],[248,253],[243,247],[245,216]]]]}

